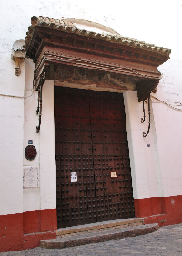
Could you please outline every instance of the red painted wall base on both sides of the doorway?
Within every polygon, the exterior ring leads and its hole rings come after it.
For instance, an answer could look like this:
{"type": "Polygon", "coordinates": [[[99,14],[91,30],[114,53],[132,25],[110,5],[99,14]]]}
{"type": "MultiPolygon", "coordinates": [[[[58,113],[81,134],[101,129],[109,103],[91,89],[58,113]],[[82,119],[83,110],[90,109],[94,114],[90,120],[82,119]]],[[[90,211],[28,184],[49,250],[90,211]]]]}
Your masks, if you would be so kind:
{"type": "MultiPolygon", "coordinates": [[[[135,199],[136,218],[160,226],[182,223],[182,195],[135,199]]],[[[40,240],[56,238],[56,209],[0,216],[0,251],[34,248],[40,240]]]]}

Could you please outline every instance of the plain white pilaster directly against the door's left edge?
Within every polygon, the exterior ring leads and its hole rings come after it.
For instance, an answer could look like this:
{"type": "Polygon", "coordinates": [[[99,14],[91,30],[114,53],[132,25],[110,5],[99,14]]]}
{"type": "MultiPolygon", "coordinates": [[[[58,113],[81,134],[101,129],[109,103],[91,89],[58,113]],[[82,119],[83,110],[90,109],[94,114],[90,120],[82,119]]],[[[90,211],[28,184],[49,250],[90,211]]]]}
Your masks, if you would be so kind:
{"type": "Polygon", "coordinates": [[[45,80],[40,131],[41,210],[56,208],[54,81],[45,80]]]}

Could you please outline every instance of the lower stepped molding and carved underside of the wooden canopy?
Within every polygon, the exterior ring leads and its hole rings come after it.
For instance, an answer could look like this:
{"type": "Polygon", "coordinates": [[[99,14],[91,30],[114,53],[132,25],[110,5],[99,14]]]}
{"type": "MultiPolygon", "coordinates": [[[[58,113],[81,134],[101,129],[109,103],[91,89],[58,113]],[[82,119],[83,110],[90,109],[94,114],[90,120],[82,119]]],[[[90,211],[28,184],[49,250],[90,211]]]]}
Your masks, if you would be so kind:
{"type": "MultiPolygon", "coordinates": [[[[89,56],[88,56],[89,58],[89,56]]],[[[42,58],[36,64],[34,84],[35,90],[40,79],[40,73],[45,71],[45,79],[77,83],[80,86],[92,85],[93,90],[124,92],[135,90],[136,83],[141,80],[159,80],[160,72],[153,69],[134,69],[116,63],[96,61],[81,57],[60,54],[57,49],[50,52],[45,50],[42,58]]],[[[138,84],[138,83],[137,83],[138,84]]],[[[156,85],[155,85],[156,86],[156,85]]]]}

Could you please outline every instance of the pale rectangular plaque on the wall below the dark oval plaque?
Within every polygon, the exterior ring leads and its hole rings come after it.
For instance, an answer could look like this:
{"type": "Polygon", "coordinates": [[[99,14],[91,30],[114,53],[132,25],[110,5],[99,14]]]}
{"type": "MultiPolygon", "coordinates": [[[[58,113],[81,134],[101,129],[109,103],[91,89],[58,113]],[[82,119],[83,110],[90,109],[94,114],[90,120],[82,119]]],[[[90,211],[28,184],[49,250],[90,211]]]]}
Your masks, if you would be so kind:
{"type": "Polygon", "coordinates": [[[24,167],[24,188],[34,188],[39,187],[39,168],[34,167],[24,167]]]}

